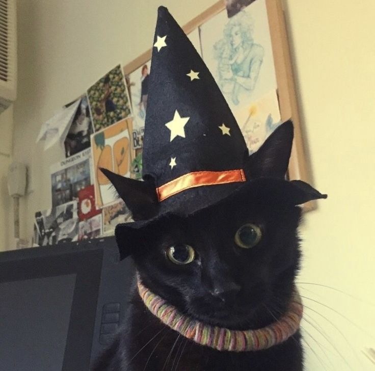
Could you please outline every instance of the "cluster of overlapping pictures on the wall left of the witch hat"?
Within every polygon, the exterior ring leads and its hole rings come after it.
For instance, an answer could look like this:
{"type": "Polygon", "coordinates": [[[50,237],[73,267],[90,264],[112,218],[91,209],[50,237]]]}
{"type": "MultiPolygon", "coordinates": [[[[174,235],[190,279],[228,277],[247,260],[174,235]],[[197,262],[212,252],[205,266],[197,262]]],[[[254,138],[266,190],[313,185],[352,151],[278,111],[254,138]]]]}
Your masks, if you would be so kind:
{"type": "Polygon", "coordinates": [[[34,245],[113,235],[117,223],[131,221],[130,211],[99,170],[104,167],[140,179],[141,152],[137,160],[135,151],[142,148],[142,141],[133,145],[133,116],[122,66],[64,105],[42,129],[49,142],[63,143],[65,158],[50,166],[52,207],[35,214],[34,245]],[[60,137],[53,139],[54,133],[60,137]]]}

